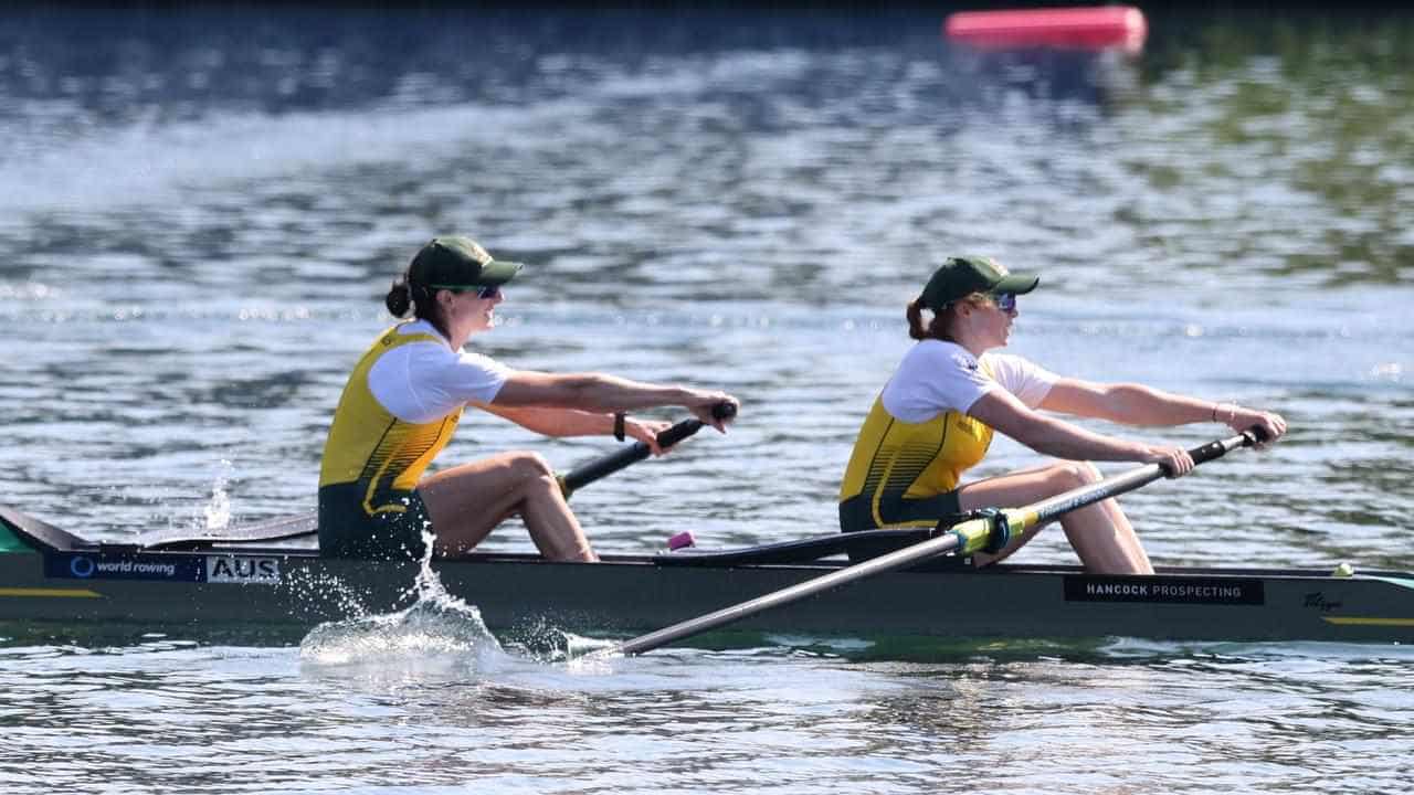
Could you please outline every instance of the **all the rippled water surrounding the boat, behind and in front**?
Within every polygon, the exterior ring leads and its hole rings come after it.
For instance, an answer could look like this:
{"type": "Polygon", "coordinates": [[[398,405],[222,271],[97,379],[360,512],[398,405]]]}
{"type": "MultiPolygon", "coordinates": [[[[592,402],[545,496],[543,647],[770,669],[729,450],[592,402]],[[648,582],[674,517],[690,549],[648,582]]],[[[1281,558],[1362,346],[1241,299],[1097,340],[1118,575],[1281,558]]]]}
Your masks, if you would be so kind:
{"type": "MultiPolygon", "coordinates": [[[[744,400],[730,434],[575,494],[598,550],[827,530],[904,303],[937,256],[981,252],[1044,273],[1015,351],[1291,420],[1126,498],[1157,563],[1411,567],[1408,18],[1159,8],[1130,61],[949,50],[943,13],[11,7],[0,501],[105,540],[311,509],[390,277],[461,232],[530,263],[478,348],[744,400]]],[[[612,441],[472,414],[443,460],[525,447],[567,468],[612,441]]],[[[981,474],[1034,461],[998,443],[981,474]]],[[[1045,533],[1019,559],[1072,553],[1045,533]]],[[[1403,648],[768,638],[575,666],[583,641],[460,615],[344,662],[6,627],[0,789],[1393,792],[1411,772],[1403,648]]]]}

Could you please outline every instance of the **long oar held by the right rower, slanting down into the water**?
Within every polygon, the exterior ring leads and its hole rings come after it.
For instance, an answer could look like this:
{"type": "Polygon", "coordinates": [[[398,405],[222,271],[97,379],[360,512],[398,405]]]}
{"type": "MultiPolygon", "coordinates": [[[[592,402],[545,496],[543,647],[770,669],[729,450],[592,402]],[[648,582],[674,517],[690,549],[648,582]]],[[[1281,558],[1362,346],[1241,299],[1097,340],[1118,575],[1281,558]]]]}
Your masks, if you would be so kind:
{"type": "MultiPolygon", "coordinates": [[[[1261,441],[1261,430],[1254,427],[1239,436],[1209,441],[1202,447],[1195,447],[1193,450],[1189,450],[1188,454],[1193,457],[1195,464],[1202,464],[1205,461],[1212,461],[1213,458],[1220,458],[1230,450],[1250,447],[1261,441]]],[[[839,571],[831,571],[822,577],[806,580],[741,604],[725,607],[715,613],[708,613],[707,615],[673,624],[672,627],[649,632],[648,635],[641,635],[618,646],[595,652],[594,656],[607,656],[612,654],[643,654],[659,646],[682,641],[683,638],[690,638],[693,635],[741,621],[742,618],[748,618],[758,613],[783,607],[806,597],[824,593],[830,588],[855,583],[864,580],[865,577],[872,577],[874,574],[905,569],[947,552],[957,552],[959,555],[970,555],[983,550],[995,552],[1007,546],[1007,540],[1012,533],[1019,533],[1042,522],[1049,522],[1051,519],[1075,511],[1076,508],[1085,508],[1086,505],[1102,499],[1109,499],[1127,491],[1134,491],[1135,488],[1157,481],[1167,474],[1168,471],[1159,464],[1145,464],[1128,472],[1070,489],[1065,494],[1059,494],[1025,508],[997,511],[977,519],[969,519],[953,525],[937,538],[915,543],[913,546],[906,546],[888,555],[881,555],[880,557],[872,557],[863,563],[855,563],[854,566],[840,569],[839,571]]]]}

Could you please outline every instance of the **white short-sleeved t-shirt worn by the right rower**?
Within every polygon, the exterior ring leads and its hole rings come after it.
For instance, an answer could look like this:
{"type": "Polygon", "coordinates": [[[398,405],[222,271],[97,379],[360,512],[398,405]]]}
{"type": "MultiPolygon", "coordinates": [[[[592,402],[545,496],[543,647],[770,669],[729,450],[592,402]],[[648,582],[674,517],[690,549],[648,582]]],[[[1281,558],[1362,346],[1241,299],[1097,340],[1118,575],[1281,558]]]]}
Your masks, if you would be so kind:
{"type": "Polygon", "coordinates": [[[925,423],[949,410],[967,413],[978,398],[998,386],[1035,409],[1060,376],[1011,354],[977,358],[956,342],[923,340],[904,356],[884,386],[884,409],[905,423],[925,423]]]}

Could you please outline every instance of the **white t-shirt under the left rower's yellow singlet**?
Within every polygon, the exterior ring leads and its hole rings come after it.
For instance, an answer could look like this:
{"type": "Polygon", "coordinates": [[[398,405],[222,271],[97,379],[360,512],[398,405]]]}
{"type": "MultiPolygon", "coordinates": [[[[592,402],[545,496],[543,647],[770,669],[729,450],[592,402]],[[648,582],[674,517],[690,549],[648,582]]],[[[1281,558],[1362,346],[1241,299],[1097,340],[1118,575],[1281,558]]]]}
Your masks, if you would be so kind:
{"type": "Polygon", "coordinates": [[[481,354],[452,351],[433,324],[417,320],[395,334],[428,334],[383,354],[368,371],[368,389],[395,417],[428,423],[469,402],[489,403],[515,371],[481,354]]]}

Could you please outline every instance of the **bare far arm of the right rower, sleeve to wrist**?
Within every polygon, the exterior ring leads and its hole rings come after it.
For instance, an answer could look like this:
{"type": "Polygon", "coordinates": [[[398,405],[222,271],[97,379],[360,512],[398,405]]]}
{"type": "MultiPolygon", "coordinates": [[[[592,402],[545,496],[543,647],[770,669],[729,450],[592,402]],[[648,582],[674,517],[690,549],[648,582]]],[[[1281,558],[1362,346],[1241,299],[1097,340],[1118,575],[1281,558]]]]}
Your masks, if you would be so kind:
{"type": "Polygon", "coordinates": [[[1058,381],[1041,400],[1041,407],[1131,426],[1179,426],[1213,419],[1212,400],[1141,383],[1096,383],[1075,378],[1058,381]]]}

